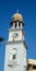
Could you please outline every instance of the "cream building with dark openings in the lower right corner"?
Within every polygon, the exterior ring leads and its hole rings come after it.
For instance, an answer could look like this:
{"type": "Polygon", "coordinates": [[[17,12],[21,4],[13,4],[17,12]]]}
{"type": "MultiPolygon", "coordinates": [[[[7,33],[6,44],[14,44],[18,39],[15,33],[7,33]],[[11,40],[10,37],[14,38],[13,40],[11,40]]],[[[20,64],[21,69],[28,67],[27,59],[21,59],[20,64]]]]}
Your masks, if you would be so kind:
{"type": "Polygon", "coordinates": [[[35,59],[27,60],[27,71],[36,71],[36,60],[35,59]]]}

